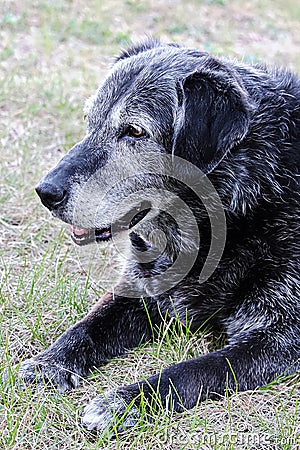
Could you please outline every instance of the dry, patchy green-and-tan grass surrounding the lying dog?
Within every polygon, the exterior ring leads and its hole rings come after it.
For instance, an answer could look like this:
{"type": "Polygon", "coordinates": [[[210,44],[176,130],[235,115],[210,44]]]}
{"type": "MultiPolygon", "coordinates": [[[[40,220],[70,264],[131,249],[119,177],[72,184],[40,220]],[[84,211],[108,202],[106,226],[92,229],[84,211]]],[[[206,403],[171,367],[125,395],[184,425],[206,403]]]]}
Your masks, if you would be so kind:
{"type": "Polygon", "coordinates": [[[94,395],[208,351],[209,336],[173,324],[160,343],[113,361],[69,395],[13,386],[14,366],[46,348],[102,292],[34,186],[81,139],[84,100],[120,46],[146,33],[299,71],[299,18],[292,0],[0,3],[0,364],[11,381],[0,383],[0,448],[299,448],[297,378],[156,416],[122,439],[88,435],[80,414],[94,395]]]}

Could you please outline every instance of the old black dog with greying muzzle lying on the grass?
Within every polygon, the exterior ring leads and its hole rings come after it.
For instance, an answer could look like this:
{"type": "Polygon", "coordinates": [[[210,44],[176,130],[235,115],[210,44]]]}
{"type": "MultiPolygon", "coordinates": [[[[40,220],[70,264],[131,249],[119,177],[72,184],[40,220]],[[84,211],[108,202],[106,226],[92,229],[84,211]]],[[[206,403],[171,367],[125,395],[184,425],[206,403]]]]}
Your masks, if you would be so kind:
{"type": "Polygon", "coordinates": [[[149,39],[115,60],[85,114],[86,136],[36,192],[76,244],[126,242],[125,262],[20,380],[75,388],[174,317],[226,344],[93,399],[89,430],[133,426],[142,399],[181,412],[296,373],[299,78],[149,39]]]}

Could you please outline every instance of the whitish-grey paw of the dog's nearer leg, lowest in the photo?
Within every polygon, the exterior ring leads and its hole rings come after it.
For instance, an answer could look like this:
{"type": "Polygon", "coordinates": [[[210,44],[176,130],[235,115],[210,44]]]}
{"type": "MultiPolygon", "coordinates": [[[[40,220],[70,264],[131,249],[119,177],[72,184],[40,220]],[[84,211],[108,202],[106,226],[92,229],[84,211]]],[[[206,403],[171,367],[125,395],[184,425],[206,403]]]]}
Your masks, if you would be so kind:
{"type": "Polygon", "coordinates": [[[135,426],[140,412],[133,400],[121,392],[108,392],[94,398],[83,410],[82,424],[90,431],[122,433],[135,426]]]}

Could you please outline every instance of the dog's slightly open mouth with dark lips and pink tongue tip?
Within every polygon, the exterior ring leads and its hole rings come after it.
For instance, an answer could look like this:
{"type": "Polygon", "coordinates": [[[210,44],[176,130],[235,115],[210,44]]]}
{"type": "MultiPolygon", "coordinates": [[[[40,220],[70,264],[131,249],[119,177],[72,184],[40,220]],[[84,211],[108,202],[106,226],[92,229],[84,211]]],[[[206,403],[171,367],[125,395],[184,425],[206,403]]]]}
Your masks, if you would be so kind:
{"type": "Polygon", "coordinates": [[[77,245],[88,245],[92,242],[107,242],[113,237],[113,233],[130,230],[141,222],[151,210],[149,202],[142,202],[139,206],[132,208],[121,219],[107,228],[76,228],[69,225],[71,238],[77,245]]]}

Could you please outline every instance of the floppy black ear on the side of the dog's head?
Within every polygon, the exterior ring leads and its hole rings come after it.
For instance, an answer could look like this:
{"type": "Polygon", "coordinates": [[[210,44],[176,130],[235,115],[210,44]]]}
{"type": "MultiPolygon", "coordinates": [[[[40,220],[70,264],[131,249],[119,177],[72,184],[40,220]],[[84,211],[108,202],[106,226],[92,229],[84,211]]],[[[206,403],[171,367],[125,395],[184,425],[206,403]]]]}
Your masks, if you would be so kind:
{"type": "Polygon", "coordinates": [[[177,85],[173,154],[211,172],[249,128],[247,95],[224,72],[196,72],[177,85]]]}

